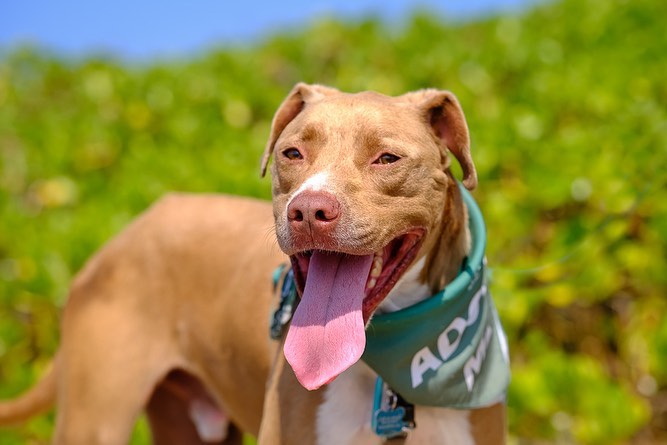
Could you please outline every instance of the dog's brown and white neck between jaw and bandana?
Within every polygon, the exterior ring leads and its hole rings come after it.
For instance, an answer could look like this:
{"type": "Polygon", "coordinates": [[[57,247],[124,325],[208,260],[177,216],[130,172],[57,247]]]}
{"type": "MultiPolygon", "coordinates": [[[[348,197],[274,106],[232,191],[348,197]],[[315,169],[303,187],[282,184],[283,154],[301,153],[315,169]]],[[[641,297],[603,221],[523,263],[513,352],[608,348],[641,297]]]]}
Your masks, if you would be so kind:
{"type": "Polygon", "coordinates": [[[440,233],[436,234],[434,247],[398,280],[378,308],[380,313],[395,312],[425,300],[444,289],[461,270],[470,250],[468,211],[453,180],[446,193],[440,233]]]}

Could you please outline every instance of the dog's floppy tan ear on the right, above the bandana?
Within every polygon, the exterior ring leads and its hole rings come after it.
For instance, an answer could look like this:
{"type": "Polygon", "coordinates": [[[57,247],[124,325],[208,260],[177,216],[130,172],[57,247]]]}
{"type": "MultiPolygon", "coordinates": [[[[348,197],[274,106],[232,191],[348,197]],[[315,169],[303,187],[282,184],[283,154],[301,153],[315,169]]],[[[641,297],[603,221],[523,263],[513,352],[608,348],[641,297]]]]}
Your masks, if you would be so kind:
{"type": "Polygon", "coordinates": [[[473,190],[477,187],[477,171],[470,155],[468,124],[456,96],[449,91],[428,89],[401,97],[422,110],[436,136],[459,161],[465,188],[473,190]]]}

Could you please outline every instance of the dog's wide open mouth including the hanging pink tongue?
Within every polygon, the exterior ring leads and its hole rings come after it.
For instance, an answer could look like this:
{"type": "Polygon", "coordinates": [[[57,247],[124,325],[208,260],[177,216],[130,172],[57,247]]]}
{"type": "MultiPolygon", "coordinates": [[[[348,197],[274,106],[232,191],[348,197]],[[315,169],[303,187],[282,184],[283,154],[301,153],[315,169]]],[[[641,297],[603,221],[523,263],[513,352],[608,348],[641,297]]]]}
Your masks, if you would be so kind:
{"type": "Polygon", "coordinates": [[[314,250],[291,256],[301,301],[285,357],[305,388],[329,383],[361,358],[366,323],[413,263],[423,236],[423,229],[411,230],[368,255],[314,250]]]}

